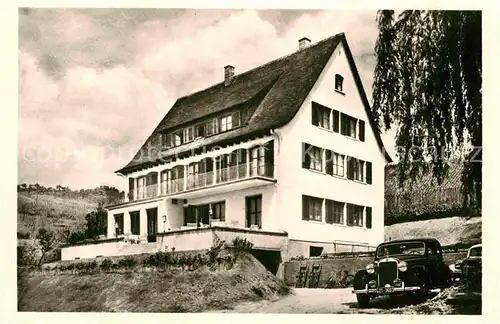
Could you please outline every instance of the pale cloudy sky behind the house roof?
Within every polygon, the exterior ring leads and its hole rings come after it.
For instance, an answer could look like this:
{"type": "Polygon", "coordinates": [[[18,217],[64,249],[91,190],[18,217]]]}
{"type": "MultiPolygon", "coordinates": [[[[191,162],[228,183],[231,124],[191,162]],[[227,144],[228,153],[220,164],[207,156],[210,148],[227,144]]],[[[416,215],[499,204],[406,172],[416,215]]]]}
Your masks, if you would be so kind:
{"type": "Polygon", "coordinates": [[[20,10],[19,183],[124,189],[113,172],[177,97],[339,32],[371,100],[374,11],[20,10]]]}

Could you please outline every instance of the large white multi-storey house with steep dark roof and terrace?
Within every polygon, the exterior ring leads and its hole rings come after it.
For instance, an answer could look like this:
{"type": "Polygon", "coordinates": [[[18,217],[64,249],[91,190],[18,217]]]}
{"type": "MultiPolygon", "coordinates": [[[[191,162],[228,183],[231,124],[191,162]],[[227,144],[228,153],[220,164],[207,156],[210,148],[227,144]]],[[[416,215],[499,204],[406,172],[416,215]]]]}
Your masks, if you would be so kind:
{"type": "Polygon", "coordinates": [[[129,192],[107,207],[107,239],[63,248],[63,259],[240,236],[286,260],[383,241],[391,159],[345,35],[302,38],[290,55],[234,71],[175,102],[116,171],[129,192]]]}

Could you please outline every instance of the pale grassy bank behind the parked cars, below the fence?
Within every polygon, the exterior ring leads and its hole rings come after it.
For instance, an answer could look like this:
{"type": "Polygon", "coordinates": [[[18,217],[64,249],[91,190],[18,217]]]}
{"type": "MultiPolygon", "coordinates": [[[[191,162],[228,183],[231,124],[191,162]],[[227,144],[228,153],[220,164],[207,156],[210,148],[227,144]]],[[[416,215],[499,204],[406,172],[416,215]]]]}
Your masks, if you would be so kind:
{"type": "Polygon", "coordinates": [[[482,236],[481,217],[449,217],[394,224],[385,227],[385,240],[434,237],[442,245],[477,243],[482,236]]]}

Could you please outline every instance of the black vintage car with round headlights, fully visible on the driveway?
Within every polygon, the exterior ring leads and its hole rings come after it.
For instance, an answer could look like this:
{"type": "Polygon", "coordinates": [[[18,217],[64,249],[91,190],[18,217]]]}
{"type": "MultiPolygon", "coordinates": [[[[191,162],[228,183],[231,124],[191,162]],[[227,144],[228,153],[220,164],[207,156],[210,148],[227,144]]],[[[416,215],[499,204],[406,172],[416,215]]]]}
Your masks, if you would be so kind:
{"type": "Polygon", "coordinates": [[[354,275],[353,293],[359,307],[382,295],[424,297],[451,284],[441,244],[433,238],[384,242],[375,260],[354,275]]]}

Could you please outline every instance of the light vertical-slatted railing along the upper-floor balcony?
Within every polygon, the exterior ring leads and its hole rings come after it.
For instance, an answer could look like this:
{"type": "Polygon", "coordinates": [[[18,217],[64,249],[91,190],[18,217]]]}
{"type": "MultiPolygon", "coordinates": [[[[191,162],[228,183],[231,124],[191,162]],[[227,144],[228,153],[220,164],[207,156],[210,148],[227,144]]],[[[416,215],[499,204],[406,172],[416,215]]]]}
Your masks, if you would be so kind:
{"type": "Polygon", "coordinates": [[[205,173],[190,174],[186,178],[162,181],[160,183],[160,186],[158,186],[158,184],[152,184],[145,187],[139,187],[136,190],[130,190],[129,200],[133,201],[154,198],[159,195],[174,194],[187,190],[206,188],[219,183],[247,179],[257,176],[273,178],[274,165],[250,165],[250,168],[247,172],[247,164],[240,164],[223,169],[217,169],[215,172],[210,171],[205,173]]]}

